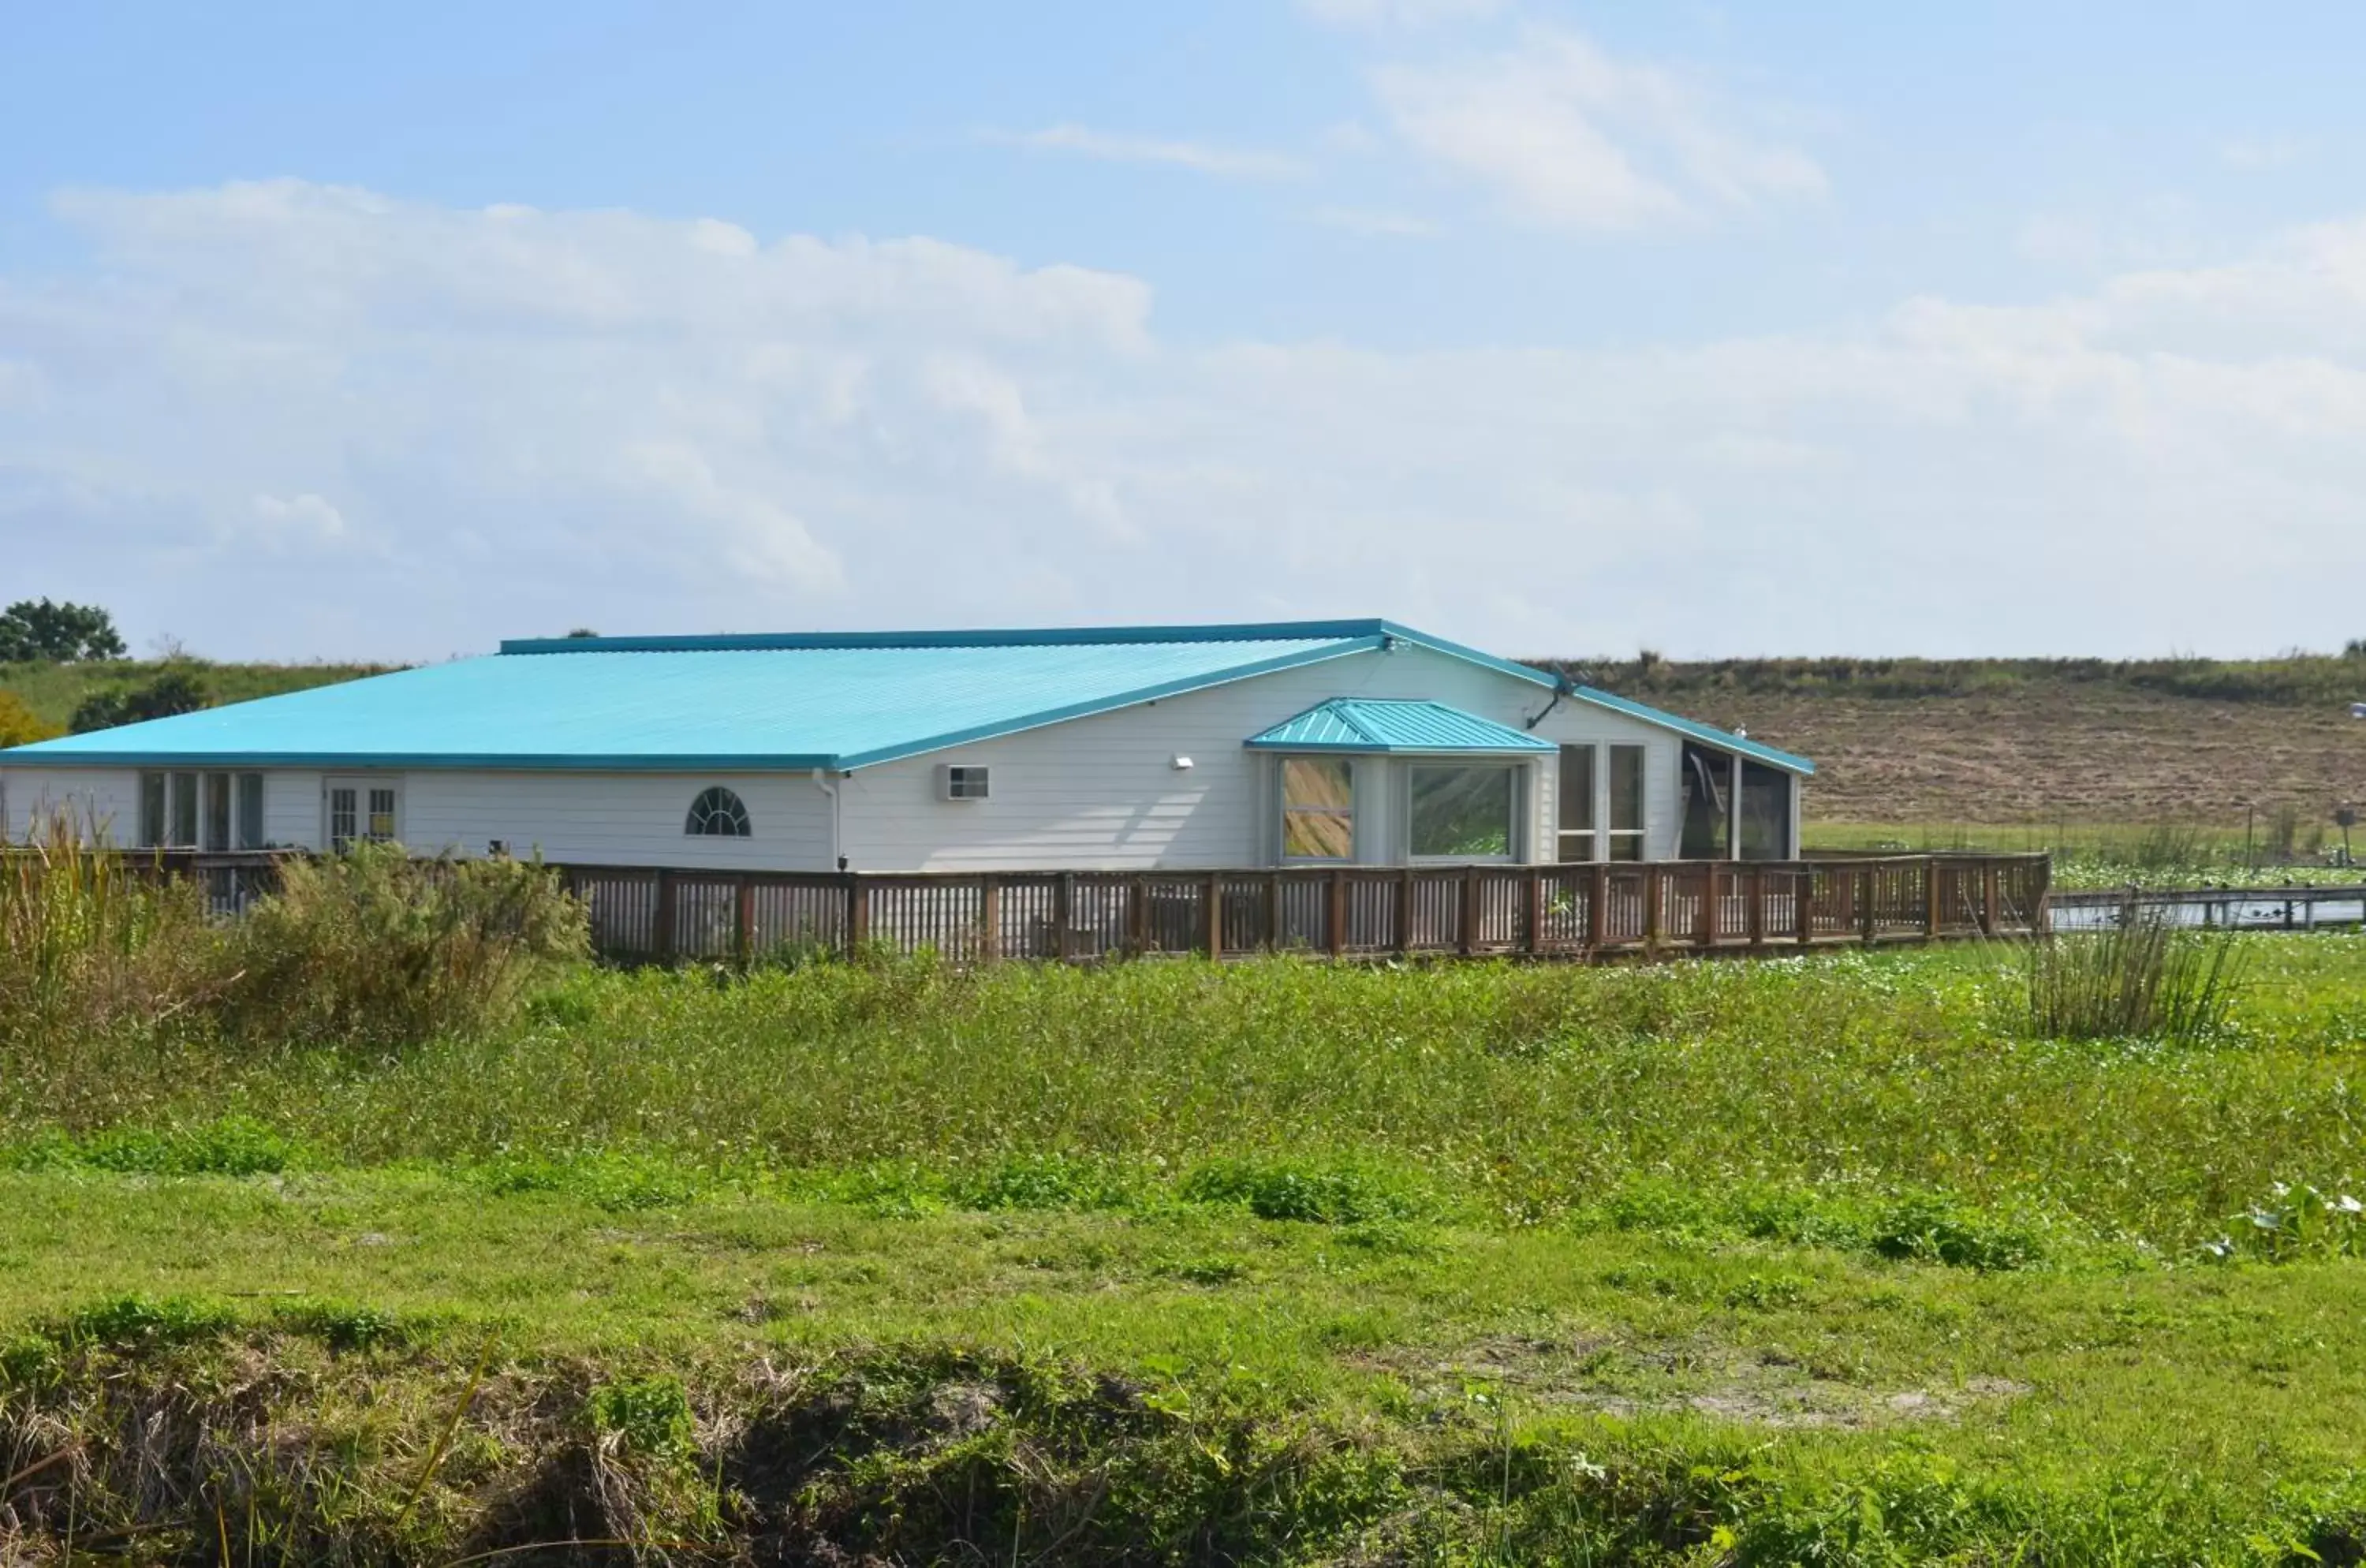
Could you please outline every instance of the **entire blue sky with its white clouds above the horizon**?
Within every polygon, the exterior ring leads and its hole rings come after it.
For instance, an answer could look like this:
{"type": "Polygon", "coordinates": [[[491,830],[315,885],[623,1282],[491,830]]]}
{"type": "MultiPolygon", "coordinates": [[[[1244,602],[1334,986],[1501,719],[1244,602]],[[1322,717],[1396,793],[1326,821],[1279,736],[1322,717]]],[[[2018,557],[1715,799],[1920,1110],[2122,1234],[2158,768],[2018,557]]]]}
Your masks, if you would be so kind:
{"type": "Polygon", "coordinates": [[[2066,12],[0,0],[0,591],[2366,636],[2366,12],[2066,12]]]}

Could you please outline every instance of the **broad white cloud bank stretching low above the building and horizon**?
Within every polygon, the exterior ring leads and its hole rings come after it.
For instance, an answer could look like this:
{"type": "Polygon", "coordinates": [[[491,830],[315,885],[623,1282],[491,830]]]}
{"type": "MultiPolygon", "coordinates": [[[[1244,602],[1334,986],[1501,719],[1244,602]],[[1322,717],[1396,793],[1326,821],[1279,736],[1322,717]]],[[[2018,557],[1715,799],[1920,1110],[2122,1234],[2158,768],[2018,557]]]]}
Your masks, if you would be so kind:
{"type": "Polygon", "coordinates": [[[1514,653],[2359,634],[2366,222],[1857,331],[1382,352],[1183,348],[1138,279],[925,239],[303,184],[59,210],[104,267],[0,274],[40,388],[0,404],[0,546],[213,655],[1334,613],[1514,653]]]}

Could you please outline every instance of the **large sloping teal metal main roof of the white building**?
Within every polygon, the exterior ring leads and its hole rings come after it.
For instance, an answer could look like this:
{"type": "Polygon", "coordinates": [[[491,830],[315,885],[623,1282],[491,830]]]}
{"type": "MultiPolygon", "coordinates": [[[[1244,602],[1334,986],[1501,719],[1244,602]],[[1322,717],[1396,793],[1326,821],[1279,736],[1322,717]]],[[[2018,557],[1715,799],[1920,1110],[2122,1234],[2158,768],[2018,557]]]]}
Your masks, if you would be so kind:
{"type": "Polygon", "coordinates": [[[1540,669],[1389,620],[523,639],[490,657],[12,747],[0,764],[847,771],[1391,646],[1559,691],[1540,669]]]}

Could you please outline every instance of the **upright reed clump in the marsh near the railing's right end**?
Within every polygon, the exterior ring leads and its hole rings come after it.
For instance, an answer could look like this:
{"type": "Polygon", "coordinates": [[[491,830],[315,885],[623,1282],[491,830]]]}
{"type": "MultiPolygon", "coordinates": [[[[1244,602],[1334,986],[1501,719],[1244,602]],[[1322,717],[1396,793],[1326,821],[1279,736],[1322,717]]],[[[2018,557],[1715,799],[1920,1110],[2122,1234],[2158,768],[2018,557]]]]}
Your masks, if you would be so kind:
{"type": "Polygon", "coordinates": [[[2241,989],[2231,932],[2189,932],[2160,915],[2037,941],[2028,953],[2028,1022],[2039,1038],[2189,1045],[2224,1034],[2241,989]]]}

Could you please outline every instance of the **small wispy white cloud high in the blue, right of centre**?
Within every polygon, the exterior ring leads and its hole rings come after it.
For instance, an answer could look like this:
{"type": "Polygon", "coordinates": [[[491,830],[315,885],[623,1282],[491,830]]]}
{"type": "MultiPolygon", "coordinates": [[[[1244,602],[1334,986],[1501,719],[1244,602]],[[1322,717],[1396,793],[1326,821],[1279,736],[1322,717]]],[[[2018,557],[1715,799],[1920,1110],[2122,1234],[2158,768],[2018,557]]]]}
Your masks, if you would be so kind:
{"type": "Polygon", "coordinates": [[[1704,88],[1564,28],[1531,26],[1498,54],[1389,64],[1372,88],[1408,147],[1538,225],[1637,229],[1824,192],[1805,151],[1737,123],[1704,88]]]}

